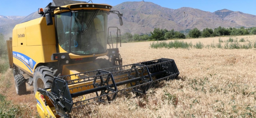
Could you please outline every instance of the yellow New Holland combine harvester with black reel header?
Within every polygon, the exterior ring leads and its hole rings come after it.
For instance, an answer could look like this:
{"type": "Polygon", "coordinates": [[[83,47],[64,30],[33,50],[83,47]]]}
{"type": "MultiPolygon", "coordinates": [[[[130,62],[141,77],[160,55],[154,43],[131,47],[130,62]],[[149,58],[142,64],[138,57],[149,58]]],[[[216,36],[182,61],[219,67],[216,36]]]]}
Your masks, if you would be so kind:
{"type": "Polygon", "coordinates": [[[107,28],[108,14],[117,14],[120,25],[122,14],[111,9],[108,4],[53,0],[13,29],[7,45],[15,89],[22,95],[25,83],[33,85],[41,117],[70,117],[72,109],[108,103],[128,92],[141,96],[152,83],[179,75],[172,59],[122,65],[120,29],[107,28]],[[111,29],[117,37],[111,37],[111,29]],[[108,59],[96,59],[104,55],[108,59]]]}

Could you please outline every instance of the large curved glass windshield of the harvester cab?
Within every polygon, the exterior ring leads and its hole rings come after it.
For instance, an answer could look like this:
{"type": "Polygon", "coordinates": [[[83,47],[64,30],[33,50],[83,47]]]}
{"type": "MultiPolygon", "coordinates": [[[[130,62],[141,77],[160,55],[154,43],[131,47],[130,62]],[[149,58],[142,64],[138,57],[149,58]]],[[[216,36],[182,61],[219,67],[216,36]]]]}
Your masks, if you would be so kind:
{"type": "Polygon", "coordinates": [[[99,10],[64,12],[56,15],[59,45],[76,55],[107,51],[107,13],[99,10]]]}

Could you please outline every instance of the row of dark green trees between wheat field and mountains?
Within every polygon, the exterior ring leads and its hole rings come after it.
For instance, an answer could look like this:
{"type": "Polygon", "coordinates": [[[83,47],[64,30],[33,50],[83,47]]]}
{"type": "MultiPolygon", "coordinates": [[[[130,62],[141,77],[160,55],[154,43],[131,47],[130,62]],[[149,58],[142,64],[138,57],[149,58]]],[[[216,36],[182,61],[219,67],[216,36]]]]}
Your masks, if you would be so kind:
{"type": "MultiPolygon", "coordinates": [[[[187,32],[187,30],[186,30],[187,32]]],[[[167,29],[154,28],[153,32],[148,34],[134,34],[129,32],[121,35],[122,42],[136,42],[136,41],[153,41],[153,40],[169,40],[169,39],[185,39],[186,37],[216,37],[216,36],[229,36],[229,35],[256,35],[256,27],[251,28],[235,28],[235,27],[217,27],[215,29],[205,28],[200,31],[198,28],[189,30],[188,35],[184,35],[182,31],[174,31],[167,29]]]]}

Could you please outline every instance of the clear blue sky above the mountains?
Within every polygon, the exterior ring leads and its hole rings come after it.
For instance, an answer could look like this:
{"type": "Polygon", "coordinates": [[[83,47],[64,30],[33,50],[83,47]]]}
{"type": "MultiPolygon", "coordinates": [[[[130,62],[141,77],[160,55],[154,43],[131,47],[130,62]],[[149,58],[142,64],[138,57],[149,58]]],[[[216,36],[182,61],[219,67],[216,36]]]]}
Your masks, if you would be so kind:
{"type": "MultiPolygon", "coordinates": [[[[85,1],[85,0],[81,0],[85,1]]],[[[89,0],[86,0],[89,1],[89,0]]],[[[106,3],[112,6],[125,1],[142,0],[92,0],[93,3],[106,3]]],[[[178,9],[191,7],[203,11],[215,12],[220,9],[240,11],[256,15],[256,0],[144,0],[153,2],[162,7],[178,9]]],[[[45,7],[52,0],[1,0],[0,15],[3,16],[27,16],[37,9],[45,7]]]]}

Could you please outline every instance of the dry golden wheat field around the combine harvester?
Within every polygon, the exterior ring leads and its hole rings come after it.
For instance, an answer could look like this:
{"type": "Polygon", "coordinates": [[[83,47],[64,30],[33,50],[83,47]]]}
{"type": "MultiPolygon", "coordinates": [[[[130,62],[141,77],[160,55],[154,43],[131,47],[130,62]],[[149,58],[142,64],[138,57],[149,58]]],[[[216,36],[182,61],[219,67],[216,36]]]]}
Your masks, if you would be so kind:
{"type": "MultiPolygon", "coordinates": [[[[229,37],[221,37],[227,40],[229,37]]],[[[236,36],[256,41],[256,35],[236,36]]],[[[218,43],[219,37],[186,39],[184,42],[218,43]]],[[[74,117],[256,117],[256,49],[166,49],[150,48],[152,42],[123,43],[119,47],[123,65],[159,58],[174,59],[180,75],[153,86],[143,97],[118,97],[111,104],[93,104],[74,117]]],[[[224,45],[224,43],[223,43],[224,45]]],[[[33,94],[17,96],[12,70],[4,75],[10,87],[1,94],[12,104],[31,112],[20,117],[38,117],[33,94]],[[8,92],[4,92],[8,91],[8,92]]],[[[1,84],[6,84],[1,82],[1,84]]],[[[28,85],[27,85],[28,86],[28,85]]],[[[30,90],[31,88],[27,88],[30,90]]],[[[32,89],[31,89],[32,91],[32,89]]],[[[131,93],[132,94],[132,93],[131,93]]],[[[132,96],[132,95],[131,95],[132,96]]]]}

